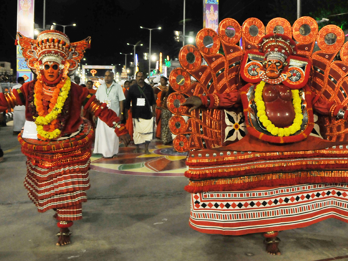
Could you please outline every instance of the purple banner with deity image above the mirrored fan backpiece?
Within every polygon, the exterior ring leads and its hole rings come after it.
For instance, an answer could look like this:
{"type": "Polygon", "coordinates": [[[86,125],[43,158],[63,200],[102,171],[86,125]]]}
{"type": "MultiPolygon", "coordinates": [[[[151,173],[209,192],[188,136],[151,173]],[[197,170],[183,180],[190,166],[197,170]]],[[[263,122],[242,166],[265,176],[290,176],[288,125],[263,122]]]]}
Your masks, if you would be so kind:
{"type": "Polygon", "coordinates": [[[219,26],[219,0],[203,0],[203,28],[217,32],[219,26]]]}

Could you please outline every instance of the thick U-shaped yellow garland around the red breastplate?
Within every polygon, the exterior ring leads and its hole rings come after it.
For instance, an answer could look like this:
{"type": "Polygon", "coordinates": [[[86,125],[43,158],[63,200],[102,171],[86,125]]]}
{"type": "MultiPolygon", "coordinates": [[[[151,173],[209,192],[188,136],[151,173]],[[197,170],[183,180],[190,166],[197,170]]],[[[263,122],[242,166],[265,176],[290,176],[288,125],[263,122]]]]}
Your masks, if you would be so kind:
{"type": "Polygon", "coordinates": [[[301,110],[301,99],[299,97],[299,90],[291,90],[292,92],[292,104],[295,109],[295,119],[292,125],[286,128],[278,128],[268,119],[266,115],[266,106],[264,105],[264,101],[262,100],[262,91],[265,85],[264,81],[261,81],[255,88],[255,98],[254,101],[256,103],[258,113],[257,116],[261,121],[262,125],[274,136],[290,136],[301,129],[302,124],[302,110],[301,110]]]}

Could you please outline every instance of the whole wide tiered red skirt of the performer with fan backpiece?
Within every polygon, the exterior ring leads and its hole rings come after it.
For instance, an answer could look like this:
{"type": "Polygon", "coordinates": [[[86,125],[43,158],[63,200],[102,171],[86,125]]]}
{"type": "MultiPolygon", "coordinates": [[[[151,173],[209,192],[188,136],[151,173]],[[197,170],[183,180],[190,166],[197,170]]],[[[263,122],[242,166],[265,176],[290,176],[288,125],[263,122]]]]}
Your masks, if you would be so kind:
{"type": "MultiPolygon", "coordinates": [[[[226,148],[227,149],[227,148],[226,148]]],[[[244,235],[348,223],[348,146],[295,152],[188,153],[190,227],[244,235]]]]}

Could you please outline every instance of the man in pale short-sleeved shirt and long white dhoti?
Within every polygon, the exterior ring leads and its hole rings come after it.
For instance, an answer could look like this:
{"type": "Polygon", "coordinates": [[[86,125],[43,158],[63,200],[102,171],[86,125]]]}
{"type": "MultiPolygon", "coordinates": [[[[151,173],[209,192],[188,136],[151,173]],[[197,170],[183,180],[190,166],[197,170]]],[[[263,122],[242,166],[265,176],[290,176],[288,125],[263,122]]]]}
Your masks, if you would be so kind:
{"type": "MultiPolygon", "coordinates": [[[[105,102],[109,109],[116,112],[117,116],[122,120],[125,96],[121,85],[113,82],[113,78],[113,72],[106,71],[104,75],[105,83],[98,87],[95,96],[101,102],[105,102]]],[[[93,153],[102,154],[104,158],[117,157],[118,147],[119,139],[114,135],[114,129],[98,119],[93,153]]]]}

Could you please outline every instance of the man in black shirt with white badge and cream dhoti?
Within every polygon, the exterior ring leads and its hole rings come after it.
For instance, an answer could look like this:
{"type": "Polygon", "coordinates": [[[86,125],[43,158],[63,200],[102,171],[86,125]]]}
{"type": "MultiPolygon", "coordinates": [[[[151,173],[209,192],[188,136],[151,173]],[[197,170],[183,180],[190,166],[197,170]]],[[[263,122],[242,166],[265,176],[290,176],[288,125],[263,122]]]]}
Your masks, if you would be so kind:
{"type": "Polygon", "coordinates": [[[135,152],[139,152],[139,145],[145,144],[145,153],[150,154],[148,148],[153,133],[153,117],[156,117],[156,100],[151,86],[144,82],[143,72],[136,73],[136,84],[129,87],[125,103],[126,119],[131,102],[135,152]]]}

